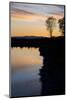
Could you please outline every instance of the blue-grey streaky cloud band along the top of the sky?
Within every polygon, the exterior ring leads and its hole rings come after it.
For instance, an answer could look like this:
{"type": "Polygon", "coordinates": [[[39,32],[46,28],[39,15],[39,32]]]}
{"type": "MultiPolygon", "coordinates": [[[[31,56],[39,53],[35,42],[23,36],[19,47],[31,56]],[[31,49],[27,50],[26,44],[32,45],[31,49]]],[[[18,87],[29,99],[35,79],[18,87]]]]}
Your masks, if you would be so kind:
{"type": "MultiPolygon", "coordinates": [[[[64,13],[64,6],[61,5],[42,5],[29,3],[11,3],[11,10],[17,9],[29,14],[49,15],[53,13],[64,13]]],[[[24,13],[24,12],[23,12],[24,13]]]]}

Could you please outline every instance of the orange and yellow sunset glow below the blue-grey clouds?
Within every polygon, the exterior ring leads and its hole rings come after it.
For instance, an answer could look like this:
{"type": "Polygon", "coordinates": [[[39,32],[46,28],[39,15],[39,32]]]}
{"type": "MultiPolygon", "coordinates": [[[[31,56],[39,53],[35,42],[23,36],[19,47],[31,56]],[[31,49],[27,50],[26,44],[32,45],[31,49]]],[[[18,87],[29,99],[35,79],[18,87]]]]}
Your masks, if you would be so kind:
{"type": "MultiPolygon", "coordinates": [[[[63,13],[36,14],[25,10],[15,9],[11,13],[11,36],[44,36],[49,37],[45,22],[48,17],[54,17],[58,21],[64,17],[63,13]]],[[[53,36],[60,36],[59,27],[54,29],[53,36]]]]}

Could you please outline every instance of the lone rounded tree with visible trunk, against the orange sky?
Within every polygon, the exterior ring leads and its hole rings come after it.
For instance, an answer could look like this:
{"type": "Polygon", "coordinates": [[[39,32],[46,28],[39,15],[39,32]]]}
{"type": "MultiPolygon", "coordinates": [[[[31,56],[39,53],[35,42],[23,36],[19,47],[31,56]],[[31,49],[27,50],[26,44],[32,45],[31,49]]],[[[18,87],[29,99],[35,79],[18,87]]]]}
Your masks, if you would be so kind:
{"type": "Polygon", "coordinates": [[[47,29],[49,30],[50,32],[50,37],[52,37],[52,32],[53,32],[53,29],[55,27],[55,24],[56,24],[56,19],[53,18],[53,17],[49,17],[47,20],[46,20],[46,25],[47,25],[47,29]]]}

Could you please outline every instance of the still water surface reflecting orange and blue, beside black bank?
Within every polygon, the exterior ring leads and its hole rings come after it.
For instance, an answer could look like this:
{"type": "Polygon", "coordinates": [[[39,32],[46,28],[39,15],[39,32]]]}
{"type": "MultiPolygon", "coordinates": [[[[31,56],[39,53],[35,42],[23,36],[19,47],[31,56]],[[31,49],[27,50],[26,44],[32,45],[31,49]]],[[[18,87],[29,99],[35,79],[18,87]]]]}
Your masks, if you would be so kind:
{"type": "Polygon", "coordinates": [[[33,96],[41,94],[39,70],[43,57],[39,48],[11,48],[11,90],[12,96],[33,96]]]}

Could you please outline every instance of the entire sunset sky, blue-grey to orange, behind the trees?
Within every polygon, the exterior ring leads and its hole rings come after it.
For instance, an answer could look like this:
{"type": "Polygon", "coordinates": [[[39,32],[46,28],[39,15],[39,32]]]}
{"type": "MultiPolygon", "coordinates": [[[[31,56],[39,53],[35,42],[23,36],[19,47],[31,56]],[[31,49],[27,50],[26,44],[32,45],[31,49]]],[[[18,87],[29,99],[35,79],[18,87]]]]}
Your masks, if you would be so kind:
{"type": "Polygon", "coordinates": [[[64,17],[64,6],[29,3],[10,3],[11,36],[44,36],[50,33],[46,28],[48,17],[56,18],[53,36],[60,36],[57,21],[64,17]]]}

